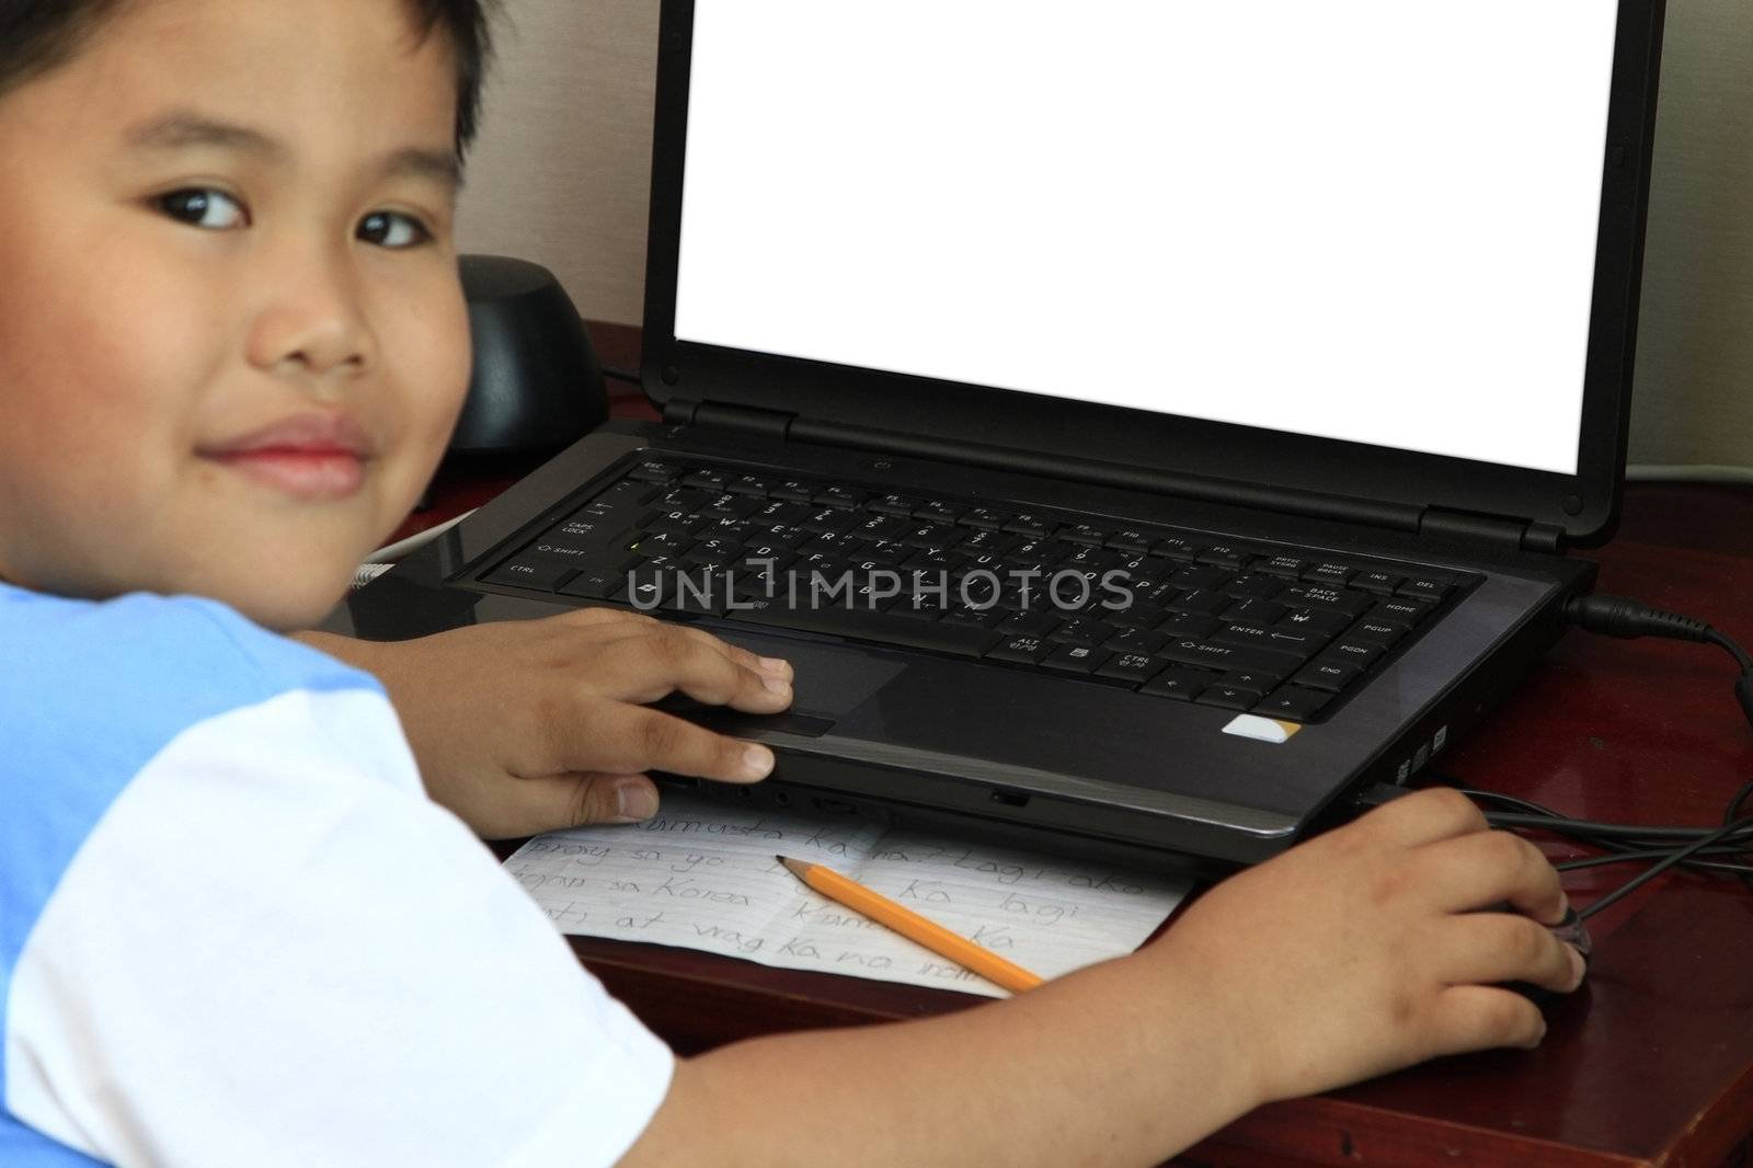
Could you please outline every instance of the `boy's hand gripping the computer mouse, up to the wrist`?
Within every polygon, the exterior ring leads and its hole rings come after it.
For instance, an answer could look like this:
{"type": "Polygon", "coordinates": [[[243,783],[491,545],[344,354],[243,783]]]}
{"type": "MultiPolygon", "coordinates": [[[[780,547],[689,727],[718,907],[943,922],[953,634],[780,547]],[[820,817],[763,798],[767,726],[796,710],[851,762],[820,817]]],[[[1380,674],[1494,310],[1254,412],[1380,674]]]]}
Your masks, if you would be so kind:
{"type": "Polygon", "coordinates": [[[1269,1101],[1539,1043],[1539,1008],[1492,982],[1576,989],[1581,954],[1543,924],[1564,910],[1539,849],[1436,789],[1218,884],[1160,949],[1232,1021],[1269,1101]],[[1518,912],[1478,912],[1499,901],[1518,912]]]}

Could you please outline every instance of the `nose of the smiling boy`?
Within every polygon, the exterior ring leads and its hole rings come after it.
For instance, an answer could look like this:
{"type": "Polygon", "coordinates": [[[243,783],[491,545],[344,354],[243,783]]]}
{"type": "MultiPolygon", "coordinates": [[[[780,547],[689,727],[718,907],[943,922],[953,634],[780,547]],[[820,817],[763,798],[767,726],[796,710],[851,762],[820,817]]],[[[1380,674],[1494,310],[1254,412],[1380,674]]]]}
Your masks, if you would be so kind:
{"type": "Polygon", "coordinates": [[[372,367],[372,328],[345,261],[277,268],[251,326],[249,360],[265,372],[321,382],[372,367]]]}

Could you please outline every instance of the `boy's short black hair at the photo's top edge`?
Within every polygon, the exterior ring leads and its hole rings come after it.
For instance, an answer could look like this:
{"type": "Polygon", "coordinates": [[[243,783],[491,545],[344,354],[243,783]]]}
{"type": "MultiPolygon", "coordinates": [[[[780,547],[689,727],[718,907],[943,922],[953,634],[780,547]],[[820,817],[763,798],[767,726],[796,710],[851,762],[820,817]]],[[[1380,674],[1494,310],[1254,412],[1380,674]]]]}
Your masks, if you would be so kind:
{"type": "MultiPolygon", "coordinates": [[[[401,0],[421,37],[444,30],[456,49],[456,153],[475,140],[493,56],[496,0],[401,0]]],[[[0,0],[0,96],[65,65],[123,0],[0,0]]]]}

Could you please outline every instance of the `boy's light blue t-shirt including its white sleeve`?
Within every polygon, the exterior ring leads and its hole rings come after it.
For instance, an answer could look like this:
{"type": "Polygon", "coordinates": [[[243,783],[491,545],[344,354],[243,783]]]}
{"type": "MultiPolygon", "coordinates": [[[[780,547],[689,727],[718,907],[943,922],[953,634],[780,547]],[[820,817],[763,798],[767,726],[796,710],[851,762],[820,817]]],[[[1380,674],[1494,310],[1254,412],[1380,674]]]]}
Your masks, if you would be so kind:
{"type": "Polygon", "coordinates": [[[0,586],[0,1164],[612,1163],[671,1056],[223,605],[0,586]]]}

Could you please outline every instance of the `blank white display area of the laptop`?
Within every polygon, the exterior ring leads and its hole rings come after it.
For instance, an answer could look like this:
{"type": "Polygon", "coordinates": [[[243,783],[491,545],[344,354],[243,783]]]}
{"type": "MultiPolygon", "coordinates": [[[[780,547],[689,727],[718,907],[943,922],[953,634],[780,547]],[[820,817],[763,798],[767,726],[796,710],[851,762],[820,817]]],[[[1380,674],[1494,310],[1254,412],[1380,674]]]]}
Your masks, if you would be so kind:
{"type": "Polygon", "coordinates": [[[675,331],[1576,474],[1609,0],[698,0],[675,331]]]}

